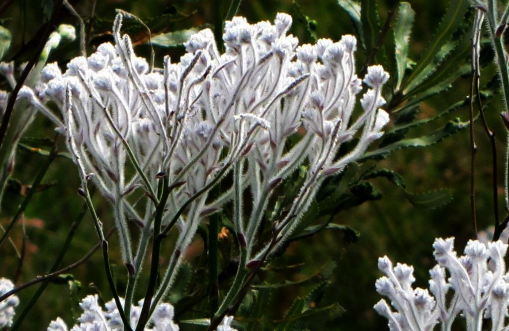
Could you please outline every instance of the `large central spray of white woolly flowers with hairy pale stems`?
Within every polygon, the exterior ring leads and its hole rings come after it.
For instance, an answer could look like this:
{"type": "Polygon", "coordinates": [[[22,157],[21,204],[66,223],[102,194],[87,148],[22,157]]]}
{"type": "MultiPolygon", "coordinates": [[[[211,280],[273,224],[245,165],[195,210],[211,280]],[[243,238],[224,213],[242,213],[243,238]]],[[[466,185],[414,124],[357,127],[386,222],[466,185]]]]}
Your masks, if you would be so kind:
{"type": "Polygon", "coordinates": [[[113,206],[123,258],[134,273],[152,236],[155,206],[146,199],[140,208],[143,202],[135,206],[139,199],[128,198],[144,190],[154,199],[158,178],[168,179],[172,190],[162,224],[175,220],[179,236],[153,305],[171,288],[204,217],[233,200],[233,223],[246,247],[242,263],[259,258],[265,250],[254,251],[257,232],[281,180],[306,164],[300,192],[273,225],[276,246],[293,233],[323,180],[358,160],[389,121],[379,109],[389,78],[380,66],[367,69],[363,111],[353,115],[361,91],[355,37],[298,46],[287,35],[291,23],[287,14],[256,24],[234,17],[225,22],[225,53],[205,29],[185,43],[179,62],[165,57],[159,69],[135,55],[129,36],[120,34],[119,14],[115,45],[72,59],[65,73],[48,65],[33,90],[19,93],[65,134],[82,185],[93,182],[113,206]],[[61,114],[53,114],[48,101],[61,114]],[[354,137],[354,147],[340,155],[340,146],[354,137]],[[209,201],[208,191],[232,170],[233,186],[222,186],[223,194],[209,201]],[[249,213],[242,207],[246,190],[253,200],[249,213]],[[142,232],[135,253],[127,220],[142,232]]]}

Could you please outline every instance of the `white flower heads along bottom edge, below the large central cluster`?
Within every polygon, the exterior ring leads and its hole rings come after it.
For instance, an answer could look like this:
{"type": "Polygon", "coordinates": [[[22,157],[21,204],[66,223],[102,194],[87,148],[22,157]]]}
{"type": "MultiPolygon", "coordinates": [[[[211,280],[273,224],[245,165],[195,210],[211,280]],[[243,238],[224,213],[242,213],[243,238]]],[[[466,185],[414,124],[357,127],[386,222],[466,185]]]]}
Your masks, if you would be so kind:
{"type": "MultiPolygon", "coordinates": [[[[83,313],[78,318],[79,324],[74,325],[71,331],[121,331],[124,329],[124,324],[122,323],[114,300],[105,304],[106,311],[99,305],[98,300],[99,297],[97,294],[88,295],[81,300],[79,307],[81,307],[83,313]]],[[[138,306],[132,306],[130,316],[131,325],[136,325],[138,323],[142,305],[143,301],[138,302],[138,306]]],[[[159,304],[152,315],[150,327],[146,327],[145,331],[179,331],[179,326],[175,324],[173,317],[174,310],[172,305],[168,303],[159,304]]],[[[233,316],[225,317],[221,326],[217,327],[217,331],[237,331],[230,326],[232,321],[233,316]]],[[[51,321],[47,331],[68,331],[68,327],[64,320],[59,317],[51,321]]]]}

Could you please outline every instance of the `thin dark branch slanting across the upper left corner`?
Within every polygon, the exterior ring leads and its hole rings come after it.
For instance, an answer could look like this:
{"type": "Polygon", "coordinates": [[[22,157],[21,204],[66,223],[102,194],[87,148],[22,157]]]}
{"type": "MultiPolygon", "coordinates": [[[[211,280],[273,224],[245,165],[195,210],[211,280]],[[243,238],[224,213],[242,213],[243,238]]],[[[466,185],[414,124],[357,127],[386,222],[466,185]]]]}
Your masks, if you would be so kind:
{"type": "Polygon", "coordinates": [[[39,61],[39,56],[41,55],[42,50],[44,49],[44,45],[46,45],[46,41],[48,40],[48,37],[53,31],[54,25],[56,24],[56,20],[62,8],[62,2],[63,0],[55,2],[53,13],[51,14],[49,21],[46,23],[46,28],[44,29],[44,33],[41,36],[41,41],[39,42],[39,45],[37,46],[34,54],[30,58],[29,63],[25,66],[23,72],[19,76],[16,86],[14,86],[13,91],[9,95],[9,100],[5,108],[4,117],[2,118],[2,125],[0,125],[0,146],[2,146],[5,134],[7,132],[7,126],[9,125],[9,120],[11,119],[12,111],[14,109],[14,104],[16,103],[16,97],[18,96],[18,92],[21,89],[21,86],[23,86],[26,77],[28,77],[32,68],[35,66],[37,61],[39,61]]]}

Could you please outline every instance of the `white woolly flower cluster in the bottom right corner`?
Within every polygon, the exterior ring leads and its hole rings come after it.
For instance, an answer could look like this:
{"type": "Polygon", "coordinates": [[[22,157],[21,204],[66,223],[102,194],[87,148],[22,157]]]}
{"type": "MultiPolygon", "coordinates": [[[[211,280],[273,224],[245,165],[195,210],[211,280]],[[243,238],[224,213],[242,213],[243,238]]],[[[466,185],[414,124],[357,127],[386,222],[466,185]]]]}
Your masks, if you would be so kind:
{"type": "Polygon", "coordinates": [[[500,240],[488,244],[469,240],[461,257],[454,251],[454,238],[437,238],[433,248],[438,264],[430,270],[429,291],[412,289],[412,266],[398,263],[393,267],[387,256],[379,258],[378,268],[386,276],[377,280],[376,289],[391,300],[397,312],[384,299],[374,308],[389,320],[389,329],[432,330],[440,323],[442,330],[450,330],[460,313],[466,318],[468,330],[482,330],[483,319],[491,319],[493,331],[507,327],[507,245],[500,240]],[[449,289],[454,293],[448,293],[449,289]]]}

